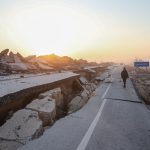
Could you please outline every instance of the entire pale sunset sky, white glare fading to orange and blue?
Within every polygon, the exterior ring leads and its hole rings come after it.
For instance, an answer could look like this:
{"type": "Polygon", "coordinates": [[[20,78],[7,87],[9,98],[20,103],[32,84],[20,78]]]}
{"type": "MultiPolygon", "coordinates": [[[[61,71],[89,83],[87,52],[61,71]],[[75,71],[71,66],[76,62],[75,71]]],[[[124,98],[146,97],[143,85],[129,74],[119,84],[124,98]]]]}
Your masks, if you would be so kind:
{"type": "Polygon", "coordinates": [[[98,62],[148,60],[148,6],[145,0],[2,0],[0,50],[98,62]]]}

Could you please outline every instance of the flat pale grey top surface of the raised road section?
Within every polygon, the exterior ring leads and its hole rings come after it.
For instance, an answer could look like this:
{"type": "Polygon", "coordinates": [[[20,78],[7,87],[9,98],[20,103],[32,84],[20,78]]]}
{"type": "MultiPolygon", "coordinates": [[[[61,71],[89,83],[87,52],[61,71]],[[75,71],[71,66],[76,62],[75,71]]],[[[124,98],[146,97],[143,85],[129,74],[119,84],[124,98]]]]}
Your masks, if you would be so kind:
{"type": "Polygon", "coordinates": [[[55,74],[43,74],[39,76],[29,76],[27,78],[14,78],[12,80],[1,80],[0,81],[0,97],[15,93],[20,90],[35,87],[43,84],[53,83],[66,78],[75,77],[78,74],[73,72],[63,72],[55,74]]]}

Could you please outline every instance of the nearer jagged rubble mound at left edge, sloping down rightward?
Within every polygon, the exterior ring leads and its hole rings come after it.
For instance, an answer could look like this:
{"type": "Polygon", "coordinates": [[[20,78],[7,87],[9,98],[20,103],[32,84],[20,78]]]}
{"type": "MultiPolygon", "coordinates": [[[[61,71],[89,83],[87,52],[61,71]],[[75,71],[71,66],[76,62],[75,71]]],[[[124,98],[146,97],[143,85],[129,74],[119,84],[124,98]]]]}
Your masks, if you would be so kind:
{"type": "Polygon", "coordinates": [[[36,56],[25,58],[21,54],[14,54],[5,49],[0,53],[0,73],[18,73],[54,70],[47,61],[36,56]]]}

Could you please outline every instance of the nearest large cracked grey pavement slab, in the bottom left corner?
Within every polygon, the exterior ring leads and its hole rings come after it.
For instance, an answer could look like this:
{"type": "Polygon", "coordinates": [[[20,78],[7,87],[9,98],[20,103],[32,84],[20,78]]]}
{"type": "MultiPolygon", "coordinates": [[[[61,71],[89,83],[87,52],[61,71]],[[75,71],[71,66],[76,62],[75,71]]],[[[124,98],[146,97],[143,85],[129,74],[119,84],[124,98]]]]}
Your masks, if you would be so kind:
{"type": "Polygon", "coordinates": [[[27,141],[42,134],[42,121],[38,112],[22,109],[1,126],[0,137],[8,140],[27,141]]]}

